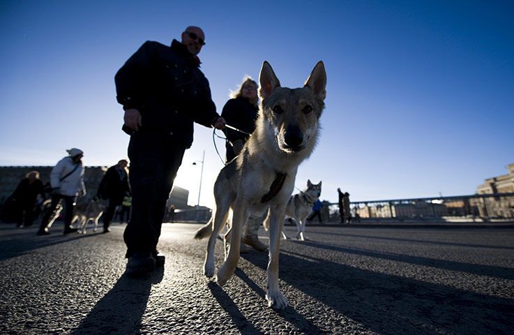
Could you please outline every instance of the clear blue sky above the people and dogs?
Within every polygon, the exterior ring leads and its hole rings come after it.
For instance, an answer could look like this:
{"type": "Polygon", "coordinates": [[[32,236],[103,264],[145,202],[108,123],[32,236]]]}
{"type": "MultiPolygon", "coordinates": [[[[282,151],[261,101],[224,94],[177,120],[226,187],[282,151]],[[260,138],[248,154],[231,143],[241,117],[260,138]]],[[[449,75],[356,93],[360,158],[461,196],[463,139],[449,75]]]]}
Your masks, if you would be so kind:
{"type": "MultiPolygon", "coordinates": [[[[287,87],[324,61],[322,136],[296,178],[322,180],[323,199],[467,195],[514,163],[512,1],[1,1],[0,165],[54,165],[70,147],[86,165],[126,157],[114,74],[190,24],[219,111],[264,60],[287,87]]],[[[195,127],[176,179],[190,204],[204,150],[213,204],[212,133],[195,127]]]]}

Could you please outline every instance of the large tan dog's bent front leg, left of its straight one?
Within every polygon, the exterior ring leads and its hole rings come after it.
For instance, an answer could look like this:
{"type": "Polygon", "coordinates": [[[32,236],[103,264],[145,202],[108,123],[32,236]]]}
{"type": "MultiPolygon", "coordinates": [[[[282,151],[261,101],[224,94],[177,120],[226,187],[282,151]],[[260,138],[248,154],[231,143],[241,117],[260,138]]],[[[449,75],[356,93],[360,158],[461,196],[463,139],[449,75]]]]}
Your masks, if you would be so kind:
{"type": "Polygon", "coordinates": [[[241,226],[244,225],[247,219],[248,213],[246,209],[240,203],[234,204],[229,253],[227,258],[225,258],[225,262],[218,269],[218,274],[216,274],[216,282],[220,286],[225,285],[236,270],[237,261],[239,260],[239,249],[241,248],[241,226]]]}

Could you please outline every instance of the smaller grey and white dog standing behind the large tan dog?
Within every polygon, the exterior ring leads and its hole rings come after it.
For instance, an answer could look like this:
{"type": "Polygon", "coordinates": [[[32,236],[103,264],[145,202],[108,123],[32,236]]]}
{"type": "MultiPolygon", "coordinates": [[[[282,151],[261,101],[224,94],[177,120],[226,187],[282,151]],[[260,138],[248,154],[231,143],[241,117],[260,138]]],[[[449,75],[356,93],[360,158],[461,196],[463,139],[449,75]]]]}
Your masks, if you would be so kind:
{"type": "MultiPolygon", "coordinates": [[[[322,182],[319,181],[319,184],[312,184],[310,180],[308,180],[307,188],[298,194],[291,195],[291,198],[289,198],[287,202],[285,215],[286,217],[294,218],[296,229],[298,230],[296,239],[299,241],[309,240],[309,238],[305,236],[305,223],[307,223],[307,218],[312,212],[312,206],[314,206],[321,194],[322,182]]],[[[268,230],[268,225],[269,222],[267,220],[264,221],[264,229],[268,230]]],[[[282,237],[288,239],[283,229],[282,237]]]]}

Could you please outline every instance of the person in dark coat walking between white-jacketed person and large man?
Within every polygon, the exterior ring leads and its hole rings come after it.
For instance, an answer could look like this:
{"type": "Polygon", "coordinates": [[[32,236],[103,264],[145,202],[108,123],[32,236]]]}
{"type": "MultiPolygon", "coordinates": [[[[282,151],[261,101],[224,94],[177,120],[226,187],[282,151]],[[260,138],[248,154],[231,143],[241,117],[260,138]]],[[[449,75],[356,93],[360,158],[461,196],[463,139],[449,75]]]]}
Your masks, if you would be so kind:
{"type": "Polygon", "coordinates": [[[116,212],[116,207],[123,203],[123,198],[128,193],[130,195],[130,187],[128,186],[128,172],[127,172],[128,161],[121,159],[116,165],[107,169],[100,186],[98,186],[98,192],[96,193],[98,198],[109,200],[107,210],[103,214],[103,232],[110,232],[112,218],[116,212]]]}

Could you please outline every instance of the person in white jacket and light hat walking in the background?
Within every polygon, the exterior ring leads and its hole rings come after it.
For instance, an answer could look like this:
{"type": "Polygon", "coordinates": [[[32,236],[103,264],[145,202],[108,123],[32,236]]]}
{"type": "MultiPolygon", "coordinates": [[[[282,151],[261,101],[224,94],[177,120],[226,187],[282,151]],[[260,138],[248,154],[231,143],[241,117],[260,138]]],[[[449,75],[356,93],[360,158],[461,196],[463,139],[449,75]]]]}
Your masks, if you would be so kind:
{"type": "Polygon", "coordinates": [[[69,156],[61,159],[50,173],[52,204],[41,219],[41,225],[37,232],[38,235],[50,234],[48,225],[54,220],[54,211],[61,200],[64,200],[64,234],[77,232],[77,229],[71,228],[70,225],[73,218],[75,198],[77,195],[86,195],[84,166],[81,161],[84,152],[77,148],[66,151],[69,156]]]}

